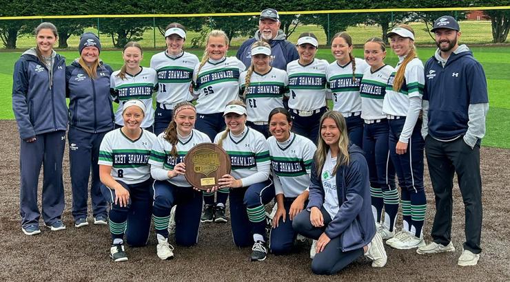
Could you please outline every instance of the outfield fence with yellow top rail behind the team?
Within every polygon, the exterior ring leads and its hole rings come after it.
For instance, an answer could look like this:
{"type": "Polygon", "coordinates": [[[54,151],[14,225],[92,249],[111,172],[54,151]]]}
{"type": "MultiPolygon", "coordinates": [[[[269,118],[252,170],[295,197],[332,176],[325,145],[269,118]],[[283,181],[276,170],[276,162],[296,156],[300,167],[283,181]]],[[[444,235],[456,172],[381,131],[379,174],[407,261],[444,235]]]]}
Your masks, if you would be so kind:
{"type": "MultiPolygon", "coordinates": [[[[258,29],[258,12],[227,14],[134,14],[0,17],[0,45],[6,49],[34,46],[33,30],[39,23],[50,21],[59,30],[59,48],[76,48],[79,34],[99,34],[103,48],[119,48],[128,41],[139,41],[143,47],[164,48],[163,36],[168,23],[179,22],[187,28],[187,48],[203,48],[210,30],[221,29],[238,47],[258,29]]],[[[373,36],[385,38],[399,23],[408,23],[416,32],[416,44],[433,44],[429,32],[433,20],[451,15],[460,23],[462,43],[470,45],[510,43],[510,7],[377,9],[280,12],[281,29],[287,39],[296,42],[301,32],[314,32],[320,45],[329,45],[336,32],[347,31],[360,45],[373,36]]]]}

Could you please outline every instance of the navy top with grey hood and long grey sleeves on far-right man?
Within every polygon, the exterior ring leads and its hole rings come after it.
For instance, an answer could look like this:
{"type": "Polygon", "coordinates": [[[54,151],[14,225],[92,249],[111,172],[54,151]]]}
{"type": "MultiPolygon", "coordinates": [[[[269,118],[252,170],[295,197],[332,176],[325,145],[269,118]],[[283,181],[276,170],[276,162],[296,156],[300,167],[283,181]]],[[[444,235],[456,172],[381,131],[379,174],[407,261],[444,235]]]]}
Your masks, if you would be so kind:
{"type": "Polygon", "coordinates": [[[440,141],[462,136],[473,148],[485,134],[488,109],[487,79],[469,48],[459,45],[446,60],[436,50],[425,64],[422,135],[440,141]]]}

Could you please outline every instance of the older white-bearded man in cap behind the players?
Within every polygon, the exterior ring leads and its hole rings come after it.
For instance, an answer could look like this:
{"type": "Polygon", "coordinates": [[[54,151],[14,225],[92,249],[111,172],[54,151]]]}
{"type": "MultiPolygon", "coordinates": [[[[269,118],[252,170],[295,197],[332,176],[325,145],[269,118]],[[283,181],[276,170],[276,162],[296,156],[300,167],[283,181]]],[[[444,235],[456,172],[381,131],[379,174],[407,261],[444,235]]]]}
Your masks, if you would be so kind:
{"type": "Polygon", "coordinates": [[[287,63],[299,58],[296,46],[285,40],[287,37],[280,30],[280,17],[274,9],[265,9],[258,19],[258,30],[252,39],[248,39],[237,50],[236,57],[245,65],[252,64],[252,44],[255,41],[265,41],[271,45],[272,67],[287,70],[287,63]]]}

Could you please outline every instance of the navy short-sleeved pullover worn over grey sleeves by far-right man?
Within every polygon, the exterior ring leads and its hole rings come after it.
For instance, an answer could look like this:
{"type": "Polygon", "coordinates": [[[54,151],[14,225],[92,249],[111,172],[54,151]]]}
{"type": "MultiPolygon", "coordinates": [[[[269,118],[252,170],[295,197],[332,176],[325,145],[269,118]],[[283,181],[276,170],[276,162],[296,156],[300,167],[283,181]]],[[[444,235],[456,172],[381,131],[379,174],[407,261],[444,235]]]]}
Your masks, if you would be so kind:
{"type": "Polygon", "coordinates": [[[485,73],[473,53],[452,53],[445,67],[435,56],[429,58],[423,100],[429,101],[427,125],[433,138],[465,135],[469,105],[489,102],[485,73]]]}

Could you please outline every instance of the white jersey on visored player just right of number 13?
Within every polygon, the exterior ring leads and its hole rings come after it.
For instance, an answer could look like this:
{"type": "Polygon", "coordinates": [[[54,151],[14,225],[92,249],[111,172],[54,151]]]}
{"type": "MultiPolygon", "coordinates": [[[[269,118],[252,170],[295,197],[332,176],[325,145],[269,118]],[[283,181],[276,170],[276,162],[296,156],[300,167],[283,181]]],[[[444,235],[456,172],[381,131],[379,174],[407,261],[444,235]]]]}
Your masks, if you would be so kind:
{"type": "Polygon", "coordinates": [[[325,107],[328,65],[326,60],[318,58],[308,65],[301,65],[299,60],[287,65],[290,109],[313,111],[325,107]]]}

